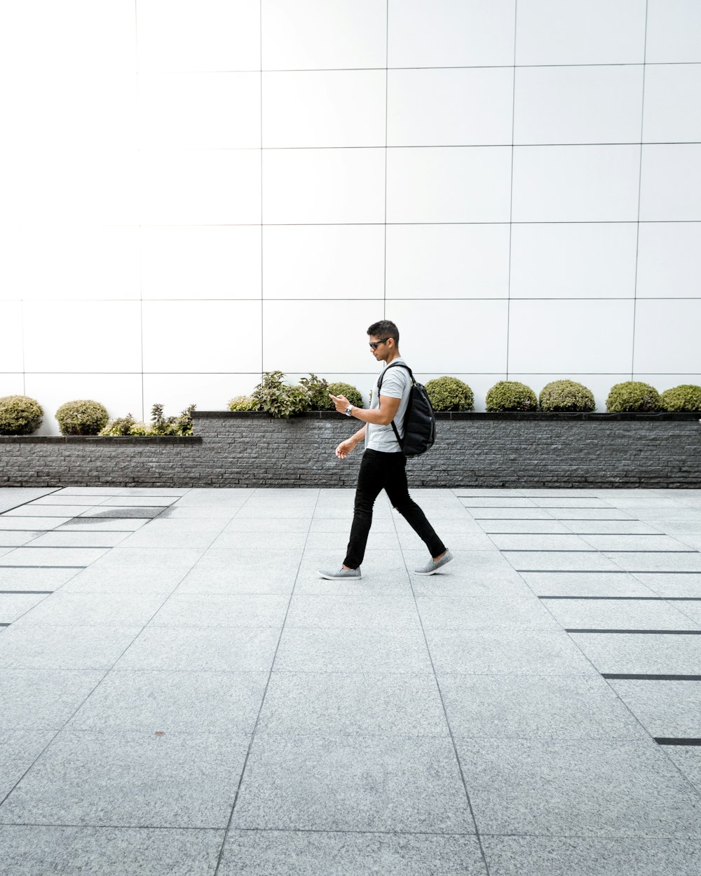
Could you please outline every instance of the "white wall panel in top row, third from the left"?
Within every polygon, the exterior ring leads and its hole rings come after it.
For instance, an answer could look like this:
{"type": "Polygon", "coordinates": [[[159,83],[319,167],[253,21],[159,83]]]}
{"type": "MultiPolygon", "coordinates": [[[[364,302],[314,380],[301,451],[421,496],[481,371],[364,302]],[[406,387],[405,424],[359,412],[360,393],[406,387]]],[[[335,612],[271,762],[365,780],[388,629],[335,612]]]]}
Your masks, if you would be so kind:
{"type": "Polygon", "coordinates": [[[385,67],[378,0],[262,0],[261,13],[265,70],[385,67]]]}

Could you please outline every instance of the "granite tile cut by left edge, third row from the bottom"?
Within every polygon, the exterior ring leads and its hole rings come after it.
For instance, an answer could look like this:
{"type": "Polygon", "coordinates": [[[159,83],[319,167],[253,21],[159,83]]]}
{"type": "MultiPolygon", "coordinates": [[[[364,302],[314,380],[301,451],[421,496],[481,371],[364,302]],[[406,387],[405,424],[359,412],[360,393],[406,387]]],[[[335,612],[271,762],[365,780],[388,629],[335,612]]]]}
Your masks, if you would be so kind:
{"type": "Polygon", "coordinates": [[[104,671],[0,669],[0,730],[58,731],[104,671]]]}

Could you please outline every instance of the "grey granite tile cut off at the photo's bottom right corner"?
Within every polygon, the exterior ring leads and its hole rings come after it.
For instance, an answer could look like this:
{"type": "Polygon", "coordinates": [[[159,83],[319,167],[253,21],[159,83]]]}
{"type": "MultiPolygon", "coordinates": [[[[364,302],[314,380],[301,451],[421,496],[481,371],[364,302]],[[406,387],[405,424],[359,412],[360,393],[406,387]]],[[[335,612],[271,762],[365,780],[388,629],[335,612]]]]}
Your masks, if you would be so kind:
{"type": "Polygon", "coordinates": [[[630,837],[493,837],[482,845],[492,876],[690,876],[701,841],[630,837]]]}

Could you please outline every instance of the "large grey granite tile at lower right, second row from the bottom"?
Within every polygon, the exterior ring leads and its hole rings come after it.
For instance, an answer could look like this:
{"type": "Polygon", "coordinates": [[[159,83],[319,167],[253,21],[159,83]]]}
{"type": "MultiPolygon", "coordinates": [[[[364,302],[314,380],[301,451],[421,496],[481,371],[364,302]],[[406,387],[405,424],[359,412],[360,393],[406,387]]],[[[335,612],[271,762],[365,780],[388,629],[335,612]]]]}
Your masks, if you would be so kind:
{"type": "Polygon", "coordinates": [[[701,838],[701,796],[651,739],[456,745],[480,833],[701,838]]]}

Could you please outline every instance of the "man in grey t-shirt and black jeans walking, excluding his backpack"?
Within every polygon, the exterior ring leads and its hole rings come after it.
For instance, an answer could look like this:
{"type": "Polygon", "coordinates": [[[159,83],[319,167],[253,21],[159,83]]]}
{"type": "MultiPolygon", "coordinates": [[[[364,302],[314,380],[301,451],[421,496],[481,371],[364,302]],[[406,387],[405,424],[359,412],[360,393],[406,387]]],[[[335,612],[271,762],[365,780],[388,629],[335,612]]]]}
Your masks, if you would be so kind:
{"type": "MultiPolygon", "coordinates": [[[[345,580],[361,576],[360,564],[365,556],[365,545],[372,524],[372,505],[380,491],[385,490],[394,508],[407,519],[426,544],[431,558],[421,569],[414,569],[417,575],[433,575],[438,569],[453,559],[453,555],[435,534],[426,515],[409,496],[407,487],[407,457],[401,452],[400,442],[394,434],[392,421],[404,437],[404,416],[407,413],[411,378],[407,368],[402,368],[404,359],[400,356],[400,333],[393,322],[381,320],[373,322],[367,330],[370,336],[372,355],[385,364],[382,386],[372,392],[369,408],[356,407],[343,395],[331,395],[336,411],[355,417],[365,423],[356,434],[341,442],[336,448],[336,456],[345,459],[361,441],[365,441],[365,453],[358,473],[353,524],[350,527],[348,552],[340,569],[319,569],[322,578],[345,580]],[[392,365],[391,368],[387,366],[392,365]]],[[[329,393],[330,394],[330,393],[329,393]]]]}

